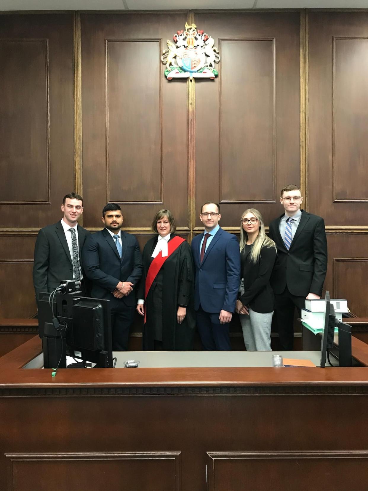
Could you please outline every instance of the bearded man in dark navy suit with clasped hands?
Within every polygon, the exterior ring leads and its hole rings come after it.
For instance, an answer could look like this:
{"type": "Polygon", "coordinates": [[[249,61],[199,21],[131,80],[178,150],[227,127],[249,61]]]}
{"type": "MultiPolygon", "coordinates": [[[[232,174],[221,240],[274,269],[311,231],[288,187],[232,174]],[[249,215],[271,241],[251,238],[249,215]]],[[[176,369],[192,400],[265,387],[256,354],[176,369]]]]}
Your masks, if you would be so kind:
{"type": "Polygon", "coordinates": [[[86,240],[83,265],[92,281],[92,297],[111,300],[112,348],[126,351],[136,305],[135,286],[142,276],[142,255],[136,238],[120,230],[120,206],[109,203],[102,215],[105,228],[86,240]]]}

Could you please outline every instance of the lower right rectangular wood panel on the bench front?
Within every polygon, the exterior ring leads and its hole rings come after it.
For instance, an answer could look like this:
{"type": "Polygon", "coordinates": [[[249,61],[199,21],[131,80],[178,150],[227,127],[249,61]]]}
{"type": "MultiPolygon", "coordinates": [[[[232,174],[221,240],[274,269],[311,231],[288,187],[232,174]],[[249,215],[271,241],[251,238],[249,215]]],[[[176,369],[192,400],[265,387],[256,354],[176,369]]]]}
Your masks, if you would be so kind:
{"type": "Polygon", "coordinates": [[[336,491],[363,491],[367,462],[367,452],[209,453],[208,489],[324,491],[333,481],[336,491]]]}

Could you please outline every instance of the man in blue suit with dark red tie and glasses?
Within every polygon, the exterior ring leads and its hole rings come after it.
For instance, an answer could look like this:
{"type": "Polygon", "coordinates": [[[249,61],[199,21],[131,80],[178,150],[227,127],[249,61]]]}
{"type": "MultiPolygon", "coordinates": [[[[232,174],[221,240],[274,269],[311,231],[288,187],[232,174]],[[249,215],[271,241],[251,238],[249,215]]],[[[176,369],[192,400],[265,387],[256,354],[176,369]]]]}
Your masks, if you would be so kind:
{"type": "Polygon", "coordinates": [[[231,350],[229,322],[240,283],[240,251],[237,238],[222,230],[220,206],[202,206],[205,232],[194,237],[196,322],[205,350],[231,350]]]}

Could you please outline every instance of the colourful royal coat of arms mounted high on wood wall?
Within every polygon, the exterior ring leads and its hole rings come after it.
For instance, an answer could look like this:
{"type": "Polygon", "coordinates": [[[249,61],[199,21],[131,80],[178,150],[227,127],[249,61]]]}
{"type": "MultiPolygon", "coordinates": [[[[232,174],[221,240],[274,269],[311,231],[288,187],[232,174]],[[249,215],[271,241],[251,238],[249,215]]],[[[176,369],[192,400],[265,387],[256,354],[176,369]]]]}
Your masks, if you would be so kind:
{"type": "Polygon", "coordinates": [[[167,80],[203,78],[214,79],[218,72],[215,62],[220,61],[218,49],[214,48],[214,39],[197,26],[185,23],[182,29],[174,34],[174,42],[167,40],[167,49],[162,52],[161,60],[166,63],[167,80]]]}

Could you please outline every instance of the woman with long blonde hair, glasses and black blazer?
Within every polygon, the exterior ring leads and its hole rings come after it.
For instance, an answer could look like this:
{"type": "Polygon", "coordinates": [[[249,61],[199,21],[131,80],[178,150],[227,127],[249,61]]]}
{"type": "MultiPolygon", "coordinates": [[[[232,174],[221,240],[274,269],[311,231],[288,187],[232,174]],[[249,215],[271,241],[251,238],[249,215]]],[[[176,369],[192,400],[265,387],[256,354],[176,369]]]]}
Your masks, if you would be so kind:
{"type": "Polygon", "coordinates": [[[264,232],[261,213],[249,208],[241,216],[241,282],[236,310],[247,351],[271,351],[274,294],[269,283],[277,249],[264,232]]]}

